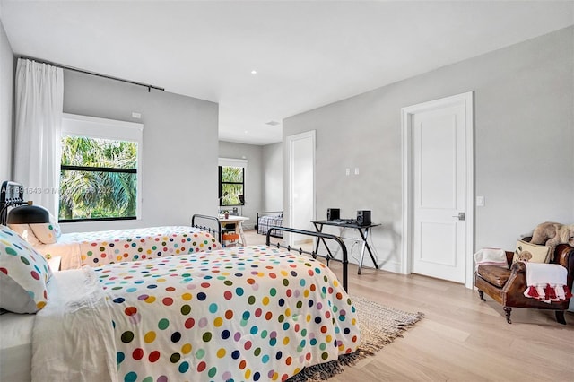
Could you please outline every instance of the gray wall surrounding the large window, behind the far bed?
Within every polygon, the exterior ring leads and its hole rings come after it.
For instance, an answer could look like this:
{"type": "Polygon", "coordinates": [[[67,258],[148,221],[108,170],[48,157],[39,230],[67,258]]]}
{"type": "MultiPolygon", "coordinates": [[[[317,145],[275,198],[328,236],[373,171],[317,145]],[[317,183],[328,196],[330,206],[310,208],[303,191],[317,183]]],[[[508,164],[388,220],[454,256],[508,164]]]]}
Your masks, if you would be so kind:
{"type": "Polygon", "coordinates": [[[186,225],[194,213],[216,213],[216,103],[65,70],[64,112],[143,123],[142,219],[65,223],[65,232],[186,225]]]}

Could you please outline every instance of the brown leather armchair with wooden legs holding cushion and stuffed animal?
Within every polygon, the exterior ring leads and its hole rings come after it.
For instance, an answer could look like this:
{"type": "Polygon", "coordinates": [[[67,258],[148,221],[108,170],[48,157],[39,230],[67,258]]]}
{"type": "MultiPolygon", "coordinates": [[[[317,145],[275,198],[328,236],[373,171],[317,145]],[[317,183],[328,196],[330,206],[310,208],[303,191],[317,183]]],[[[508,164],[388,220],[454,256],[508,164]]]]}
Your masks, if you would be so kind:
{"type": "MultiPolygon", "coordinates": [[[[512,264],[513,252],[506,252],[509,269],[497,265],[478,265],[474,273],[474,285],[478,288],[481,300],[484,293],[499,302],[506,313],[509,324],[512,308],[552,309],[556,311],[556,321],[566,324],[564,311],[568,309],[570,299],[552,301],[551,303],[530,299],[524,296],[526,291],[526,265],[518,262],[512,264]]],[[[568,270],[567,285],[572,290],[574,281],[574,247],[561,244],[554,250],[552,264],[560,264],[568,270]]]]}

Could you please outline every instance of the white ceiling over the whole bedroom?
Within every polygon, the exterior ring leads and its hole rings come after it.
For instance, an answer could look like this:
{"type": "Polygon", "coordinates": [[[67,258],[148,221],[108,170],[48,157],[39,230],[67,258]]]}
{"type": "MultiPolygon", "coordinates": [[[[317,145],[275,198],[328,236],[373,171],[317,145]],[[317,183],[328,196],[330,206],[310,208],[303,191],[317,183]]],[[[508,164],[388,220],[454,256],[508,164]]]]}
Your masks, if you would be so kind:
{"type": "Polygon", "coordinates": [[[574,2],[0,0],[0,17],[17,56],[217,102],[220,139],[268,144],[285,117],[572,25],[574,2]]]}

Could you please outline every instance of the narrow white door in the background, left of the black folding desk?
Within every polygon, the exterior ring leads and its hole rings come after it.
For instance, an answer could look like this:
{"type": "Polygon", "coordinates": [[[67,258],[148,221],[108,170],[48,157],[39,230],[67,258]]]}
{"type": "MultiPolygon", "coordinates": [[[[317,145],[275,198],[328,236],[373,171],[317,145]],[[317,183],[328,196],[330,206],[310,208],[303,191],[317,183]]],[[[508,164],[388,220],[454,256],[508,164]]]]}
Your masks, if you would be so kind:
{"type": "MultiPolygon", "coordinates": [[[[289,226],[313,230],[315,216],[315,130],[290,135],[289,143],[289,226]]],[[[289,245],[300,242],[297,235],[289,235],[289,245]]]]}

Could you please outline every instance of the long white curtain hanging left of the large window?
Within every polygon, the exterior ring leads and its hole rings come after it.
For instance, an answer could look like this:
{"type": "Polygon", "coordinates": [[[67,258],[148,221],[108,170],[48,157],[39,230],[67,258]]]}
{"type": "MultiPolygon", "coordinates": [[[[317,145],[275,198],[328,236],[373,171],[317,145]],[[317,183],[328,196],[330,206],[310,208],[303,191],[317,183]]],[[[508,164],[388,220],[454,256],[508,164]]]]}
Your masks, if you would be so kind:
{"type": "Polygon", "coordinates": [[[60,183],[64,73],[61,68],[18,59],[13,180],[26,200],[57,216],[60,183]]]}

